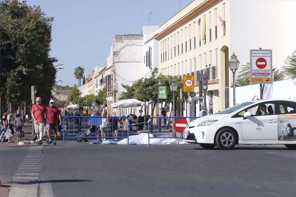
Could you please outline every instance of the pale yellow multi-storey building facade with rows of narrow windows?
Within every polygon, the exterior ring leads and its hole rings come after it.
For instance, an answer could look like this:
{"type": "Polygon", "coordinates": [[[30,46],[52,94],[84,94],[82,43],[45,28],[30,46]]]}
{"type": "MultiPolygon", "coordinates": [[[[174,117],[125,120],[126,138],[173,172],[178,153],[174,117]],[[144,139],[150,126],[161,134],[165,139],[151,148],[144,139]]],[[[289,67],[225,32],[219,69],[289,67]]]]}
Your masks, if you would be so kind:
{"type": "Polygon", "coordinates": [[[160,26],[154,37],[159,41],[160,73],[176,75],[180,80],[184,75],[194,75],[196,95],[201,74],[208,74],[209,114],[231,103],[229,21],[229,1],[193,1],[160,26]]]}

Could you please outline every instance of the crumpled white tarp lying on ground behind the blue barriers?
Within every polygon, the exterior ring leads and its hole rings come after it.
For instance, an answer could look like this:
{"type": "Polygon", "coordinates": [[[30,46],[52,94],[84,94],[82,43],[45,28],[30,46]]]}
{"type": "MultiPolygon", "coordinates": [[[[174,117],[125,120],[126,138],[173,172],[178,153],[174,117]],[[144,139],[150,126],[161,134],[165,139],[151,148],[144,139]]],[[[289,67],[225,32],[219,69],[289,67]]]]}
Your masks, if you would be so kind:
{"type": "MultiPolygon", "coordinates": [[[[153,137],[153,134],[149,135],[153,137]]],[[[140,133],[139,135],[130,135],[129,143],[134,142],[135,144],[148,144],[148,133],[140,133]]],[[[127,144],[128,138],[117,142],[118,144],[127,144]]],[[[178,144],[178,141],[175,138],[151,138],[150,144],[178,144]]]]}

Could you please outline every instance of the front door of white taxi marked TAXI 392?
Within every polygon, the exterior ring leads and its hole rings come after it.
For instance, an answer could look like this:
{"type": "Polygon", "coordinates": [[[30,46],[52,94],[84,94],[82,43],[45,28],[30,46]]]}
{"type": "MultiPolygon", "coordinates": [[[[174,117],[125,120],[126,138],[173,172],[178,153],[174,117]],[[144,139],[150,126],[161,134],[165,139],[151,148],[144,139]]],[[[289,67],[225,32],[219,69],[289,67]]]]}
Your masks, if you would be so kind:
{"type": "Polygon", "coordinates": [[[242,141],[278,141],[275,105],[275,102],[260,103],[247,109],[252,116],[242,119],[242,141]],[[260,105],[266,106],[267,115],[261,114],[260,105]]]}

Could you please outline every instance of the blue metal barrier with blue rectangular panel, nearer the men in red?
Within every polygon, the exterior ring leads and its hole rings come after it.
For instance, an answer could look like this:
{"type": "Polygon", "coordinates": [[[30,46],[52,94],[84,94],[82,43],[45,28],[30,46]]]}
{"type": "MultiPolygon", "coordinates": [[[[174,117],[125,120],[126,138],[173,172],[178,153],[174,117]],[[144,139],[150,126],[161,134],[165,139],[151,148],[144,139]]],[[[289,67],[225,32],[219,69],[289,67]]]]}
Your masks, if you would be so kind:
{"type": "Polygon", "coordinates": [[[129,120],[127,117],[120,117],[120,116],[66,116],[63,119],[63,145],[65,144],[65,139],[67,138],[127,138],[129,144],[129,120]],[[106,137],[103,137],[103,128],[102,126],[102,118],[107,119],[107,127],[105,129],[106,131],[106,137]],[[113,128],[113,123],[110,123],[111,118],[117,118],[117,127],[113,128]],[[120,129],[120,123],[119,120],[125,118],[128,122],[128,128],[127,128],[127,136],[124,136],[124,126],[122,126],[122,129],[120,129]],[[66,123],[66,124],[65,124],[66,123]],[[70,123],[73,123],[73,126],[70,123]],[[110,125],[109,125],[110,123],[110,125]],[[90,127],[91,125],[95,125],[95,136],[91,136],[90,127]],[[100,126],[97,128],[97,126],[100,126]],[[68,136],[65,136],[65,131],[68,136]],[[82,131],[83,130],[83,131],[82,131]],[[117,137],[113,135],[113,131],[117,130],[117,137]],[[121,137],[119,137],[119,131],[121,131],[121,137]],[[89,132],[89,135],[86,135],[89,132]],[[99,137],[99,132],[101,132],[101,136],[99,137]],[[112,133],[112,136],[109,136],[109,132],[112,133]],[[82,135],[83,134],[83,135],[82,135]],[[81,135],[81,136],[79,136],[81,135]]]}

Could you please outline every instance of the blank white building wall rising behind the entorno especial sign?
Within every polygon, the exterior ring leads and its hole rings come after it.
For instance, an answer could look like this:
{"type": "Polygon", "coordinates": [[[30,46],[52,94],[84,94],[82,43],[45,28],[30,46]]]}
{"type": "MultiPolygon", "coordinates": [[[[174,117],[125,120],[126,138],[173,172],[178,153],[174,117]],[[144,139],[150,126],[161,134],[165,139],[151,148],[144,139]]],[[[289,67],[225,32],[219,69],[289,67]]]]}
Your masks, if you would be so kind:
{"type": "MultiPolygon", "coordinates": [[[[296,49],[296,1],[229,1],[230,51],[241,65],[250,62],[250,49],[271,49],[273,68],[284,65],[296,49]]],[[[227,22],[227,21],[226,21],[227,22]]],[[[228,33],[229,30],[226,29],[228,33]]]]}

